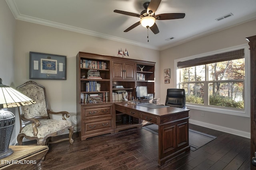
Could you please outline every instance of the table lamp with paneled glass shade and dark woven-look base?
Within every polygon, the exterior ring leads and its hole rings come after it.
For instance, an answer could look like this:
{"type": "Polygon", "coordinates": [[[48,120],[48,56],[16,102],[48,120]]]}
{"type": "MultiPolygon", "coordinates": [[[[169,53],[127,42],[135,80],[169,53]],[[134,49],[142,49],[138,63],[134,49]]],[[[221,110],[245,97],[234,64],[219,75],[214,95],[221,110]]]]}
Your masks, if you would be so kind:
{"type": "Polygon", "coordinates": [[[24,94],[2,84],[2,78],[0,78],[0,159],[13,153],[13,150],[9,148],[9,143],[15,124],[15,115],[3,108],[28,106],[35,103],[24,94]]]}

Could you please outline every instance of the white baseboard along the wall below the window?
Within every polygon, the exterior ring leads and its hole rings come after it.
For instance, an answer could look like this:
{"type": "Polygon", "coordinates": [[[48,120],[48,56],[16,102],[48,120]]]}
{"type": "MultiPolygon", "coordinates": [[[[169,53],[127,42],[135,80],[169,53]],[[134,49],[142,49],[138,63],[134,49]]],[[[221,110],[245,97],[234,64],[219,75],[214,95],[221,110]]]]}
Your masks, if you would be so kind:
{"type": "Polygon", "coordinates": [[[218,125],[214,125],[214,124],[210,124],[210,123],[204,123],[202,121],[196,121],[196,120],[193,120],[193,119],[189,119],[189,123],[194,124],[194,125],[198,125],[198,126],[202,126],[202,127],[207,127],[207,128],[214,129],[214,130],[217,130],[217,131],[230,133],[230,134],[233,134],[233,135],[238,135],[238,136],[245,137],[245,138],[248,138],[248,139],[251,138],[251,133],[245,132],[245,131],[239,131],[237,129],[231,129],[231,128],[228,128],[228,127],[218,126],[218,125]]]}

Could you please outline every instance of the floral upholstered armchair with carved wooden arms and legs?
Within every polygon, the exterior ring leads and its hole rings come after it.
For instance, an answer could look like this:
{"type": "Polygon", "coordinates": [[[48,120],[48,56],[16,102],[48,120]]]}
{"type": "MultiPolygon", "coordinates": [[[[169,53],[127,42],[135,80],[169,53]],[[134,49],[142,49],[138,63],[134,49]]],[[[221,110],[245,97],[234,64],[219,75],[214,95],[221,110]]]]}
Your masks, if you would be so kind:
{"type": "Polygon", "coordinates": [[[66,117],[70,117],[67,111],[53,112],[48,109],[46,90],[44,86],[33,81],[28,81],[16,88],[22,94],[33,99],[36,104],[19,107],[20,117],[20,133],[17,141],[22,145],[22,140],[25,137],[29,140],[36,140],[37,145],[48,145],[64,140],[69,140],[70,144],[74,142],[72,134],[74,127],[66,117]],[[51,119],[50,115],[62,114],[62,120],[51,119]],[[60,135],[69,130],[69,138],[58,139],[51,141],[51,137],[60,135]]]}

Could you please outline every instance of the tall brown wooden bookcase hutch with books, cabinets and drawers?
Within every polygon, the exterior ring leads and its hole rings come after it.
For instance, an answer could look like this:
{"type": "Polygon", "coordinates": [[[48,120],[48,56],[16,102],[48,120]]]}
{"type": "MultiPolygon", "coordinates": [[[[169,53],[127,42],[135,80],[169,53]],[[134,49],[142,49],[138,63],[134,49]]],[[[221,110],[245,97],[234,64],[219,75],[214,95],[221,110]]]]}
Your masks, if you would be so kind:
{"type": "MultiPolygon", "coordinates": [[[[115,111],[114,103],[123,102],[122,92],[129,94],[129,101],[136,99],[136,86],[148,86],[148,93],[154,96],[154,69],[154,62],[79,52],[76,117],[80,139],[142,127],[145,121],[115,111]]],[[[140,102],[158,104],[159,99],[140,102]]]]}

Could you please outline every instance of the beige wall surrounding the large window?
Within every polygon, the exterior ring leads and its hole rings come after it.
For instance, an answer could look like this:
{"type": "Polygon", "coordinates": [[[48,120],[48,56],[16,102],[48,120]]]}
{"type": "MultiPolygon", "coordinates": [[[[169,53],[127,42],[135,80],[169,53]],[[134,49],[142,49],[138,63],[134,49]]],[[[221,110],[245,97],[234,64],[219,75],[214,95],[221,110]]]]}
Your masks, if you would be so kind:
{"type": "MultiPolygon", "coordinates": [[[[245,38],[256,35],[255,28],[256,20],[253,20],[161,51],[161,68],[171,68],[170,84],[164,84],[163,70],[160,70],[161,103],[163,104],[164,102],[166,89],[176,87],[174,84],[175,59],[248,44],[248,41],[246,41],[245,38]]],[[[250,118],[248,117],[232,116],[207,111],[204,111],[204,117],[202,117],[201,111],[190,110],[190,121],[214,129],[250,136],[250,118]]]]}

